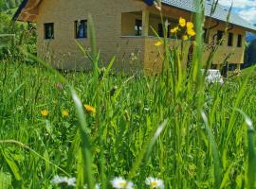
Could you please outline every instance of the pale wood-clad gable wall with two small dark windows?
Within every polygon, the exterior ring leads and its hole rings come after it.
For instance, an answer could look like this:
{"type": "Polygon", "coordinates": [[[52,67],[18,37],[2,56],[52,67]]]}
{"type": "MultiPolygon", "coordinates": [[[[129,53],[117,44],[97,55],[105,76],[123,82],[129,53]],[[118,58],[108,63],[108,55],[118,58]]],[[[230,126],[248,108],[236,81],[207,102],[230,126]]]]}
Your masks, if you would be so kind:
{"type": "MultiPolygon", "coordinates": [[[[115,56],[122,60],[132,55],[137,47],[143,51],[143,43],[134,40],[127,43],[121,38],[121,12],[141,11],[145,4],[134,0],[44,0],[39,7],[37,17],[38,54],[42,59],[51,61],[57,68],[90,69],[91,62],[82,56],[75,42],[75,24],[77,20],[88,19],[90,13],[96,28],[97,45],[102,62],[105,65],[115,56]],[[114,13],[115,12],[115,13],[114,13]],[[44,24],[54,23],[54,40],[45,40],[44,24]],[[48,55],[48,56],[46,56],[48,55]]],[[[88,39],[79,39],[83,46],[89,46],[88,39]]],[[[138,53],[139,53],[138,52],[138,53]]],[[[137,55],[140,60],[143,54],[137,55]]],[[[115,66],[120,67],[116,61],[115,66]]]]}

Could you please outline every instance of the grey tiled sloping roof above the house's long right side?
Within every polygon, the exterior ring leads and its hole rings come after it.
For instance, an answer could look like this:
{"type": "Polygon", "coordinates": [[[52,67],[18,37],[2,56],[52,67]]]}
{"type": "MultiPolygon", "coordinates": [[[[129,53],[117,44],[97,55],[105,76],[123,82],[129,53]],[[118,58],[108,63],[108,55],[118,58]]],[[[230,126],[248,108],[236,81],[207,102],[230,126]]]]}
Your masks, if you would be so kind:
{"type": "MultiPolygon", "coordinates": [[[[162,0],[162,3],[167,6],[196,12],[197,8],[194,1],[195,0],[162,0]]],[[[205,15],[219,21],[227,22],[229,8],[227,9],[226,7],[218,4],[215,11],[211,14],[212,4],[212,0],[205,0],[205,15]]],[[[248,23],[245,19],[241,18],[238,14],[235,14],[232,11],[229,15],[229,23],[256,31],[256,26],[248,23]]]]}

